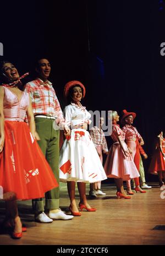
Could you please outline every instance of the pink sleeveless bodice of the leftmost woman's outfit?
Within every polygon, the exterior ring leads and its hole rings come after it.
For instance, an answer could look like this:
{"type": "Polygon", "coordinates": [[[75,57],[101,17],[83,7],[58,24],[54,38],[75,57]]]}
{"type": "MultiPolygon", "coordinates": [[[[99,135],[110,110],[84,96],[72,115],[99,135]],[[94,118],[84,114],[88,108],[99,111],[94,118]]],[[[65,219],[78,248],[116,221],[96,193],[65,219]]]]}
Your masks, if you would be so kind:
{"type": "Polygon", "coordinates": [[[7,87],[4,88],[4,101],[3,101],[3,113],[4,119],[7,121],[19,121],[24,122],[27,107],[29,106],[29,94],[23,92],[21,99],[10,91],[7,87]]]}

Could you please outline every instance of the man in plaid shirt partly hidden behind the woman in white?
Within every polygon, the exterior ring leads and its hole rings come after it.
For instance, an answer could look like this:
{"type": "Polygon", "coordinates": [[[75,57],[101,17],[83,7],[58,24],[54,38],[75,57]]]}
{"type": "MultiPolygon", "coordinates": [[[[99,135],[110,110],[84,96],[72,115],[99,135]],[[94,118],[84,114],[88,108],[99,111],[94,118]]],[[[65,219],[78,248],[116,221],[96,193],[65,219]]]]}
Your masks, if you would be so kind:
{"type": "MultiPolygon", "coordinates": [[[[103,133],[102,126],[104,123],[104,118],[100,118],[100,127],[94,126],[90,129],[90,135],[91,139],[95,145],[95,148],[97,150],[98,156],[100,157],[101,162],[102,159],[102,151],[104,154],[108,154],[108,147],[107,147],[107,141],[105,138],[105,134],[103,133]]],[[[101,181],[95,182],[90,184],[90,191],[89,195],[91,198],[96,198],[97,195],[106,195],[106,193],[103,193],[101,191],[101,181]]]]}

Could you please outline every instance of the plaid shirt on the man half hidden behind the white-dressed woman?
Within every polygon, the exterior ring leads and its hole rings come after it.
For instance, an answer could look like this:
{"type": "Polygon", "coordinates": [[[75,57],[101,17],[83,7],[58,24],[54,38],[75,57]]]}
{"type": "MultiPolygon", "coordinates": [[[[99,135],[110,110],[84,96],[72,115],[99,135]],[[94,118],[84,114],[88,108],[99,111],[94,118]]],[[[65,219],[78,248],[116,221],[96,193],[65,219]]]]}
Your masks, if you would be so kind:
{"type": "Polygon", "coordinates": [[[98,129],[97,126],[94,126],[90,129],[90,135],[95,145],[101,145],[102,150],[108,152],[107,141],[102,129],[98,129]]]}

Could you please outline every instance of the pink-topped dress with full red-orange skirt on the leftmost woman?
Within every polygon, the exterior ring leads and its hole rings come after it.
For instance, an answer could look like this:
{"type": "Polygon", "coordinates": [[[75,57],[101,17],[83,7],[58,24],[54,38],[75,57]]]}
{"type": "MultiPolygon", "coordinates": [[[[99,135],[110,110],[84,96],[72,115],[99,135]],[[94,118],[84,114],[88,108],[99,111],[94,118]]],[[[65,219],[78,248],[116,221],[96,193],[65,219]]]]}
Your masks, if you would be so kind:
{"type": "Polygon", "coordinates": [[[44,197],[45,192],[58,187],[56,178],[24,122],[29,106],[29,94],[21,99],[4,88],[4,148],[0,154],[0,186],[3,192],[15,192],[17,199],[44,197]]]}

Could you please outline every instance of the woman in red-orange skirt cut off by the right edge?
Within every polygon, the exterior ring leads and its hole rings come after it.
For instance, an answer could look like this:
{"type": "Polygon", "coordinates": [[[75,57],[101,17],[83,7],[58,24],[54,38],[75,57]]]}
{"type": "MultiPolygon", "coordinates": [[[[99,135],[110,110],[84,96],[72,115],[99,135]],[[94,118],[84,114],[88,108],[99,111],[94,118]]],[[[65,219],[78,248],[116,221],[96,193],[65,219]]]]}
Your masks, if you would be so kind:
{"type": "Polygon", "coordinates": [[[149,173],[158,175],[160,187],[164,185],[165,181],[165,139],[163,132],[158,135],[155,152],[149,167],[149,173]]]}

